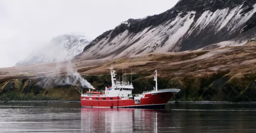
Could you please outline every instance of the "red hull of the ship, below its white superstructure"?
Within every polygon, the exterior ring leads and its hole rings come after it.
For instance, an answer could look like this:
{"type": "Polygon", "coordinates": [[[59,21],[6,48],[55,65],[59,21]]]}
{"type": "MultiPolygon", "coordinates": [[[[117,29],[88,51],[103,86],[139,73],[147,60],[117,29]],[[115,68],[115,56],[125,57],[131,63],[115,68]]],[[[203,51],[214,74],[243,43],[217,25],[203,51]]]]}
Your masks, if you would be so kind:
{"type": "Polygon", "coordinates": [[[135,103],[133,99],[121,99],[120,97],[103,96],[81,96],[82,107],[98,108],[160,108],[164,109],[167,102],[176,92],[162,92],[145,94],[140,99],[140,103],[135,103]]]}

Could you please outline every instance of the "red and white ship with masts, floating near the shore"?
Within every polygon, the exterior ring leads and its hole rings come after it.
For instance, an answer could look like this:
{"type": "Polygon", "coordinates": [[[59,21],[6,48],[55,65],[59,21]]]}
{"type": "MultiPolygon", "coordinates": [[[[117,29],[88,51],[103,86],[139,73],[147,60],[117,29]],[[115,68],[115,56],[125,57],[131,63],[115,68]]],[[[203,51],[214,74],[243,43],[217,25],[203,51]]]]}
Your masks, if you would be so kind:
{"type": "Polygon", "coordinates": [[[142,94],[132,94],[132,83],[124,80],[116,80],[113,65],[110,66],[111,86],[105,87],[105,91],[87,91],[81,93],[81,107],[95,108],[154,108],[165,109],[168,101],[177,94],[180,89],[157,89],[157,70],[154,71],[155,87],[151,91],[142,94]]]}

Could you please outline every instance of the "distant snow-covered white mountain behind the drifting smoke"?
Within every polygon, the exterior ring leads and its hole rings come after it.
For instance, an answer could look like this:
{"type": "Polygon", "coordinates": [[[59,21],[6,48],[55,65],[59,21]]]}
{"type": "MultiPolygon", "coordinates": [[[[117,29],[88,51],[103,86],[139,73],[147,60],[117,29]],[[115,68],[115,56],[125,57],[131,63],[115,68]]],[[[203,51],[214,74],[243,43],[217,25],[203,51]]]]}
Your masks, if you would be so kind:
{"type": "Polygon", "coordinates": [[[69,33],[53,38],[49,44],[33,51],[25,60],[15,66],[64,61],[80,54],[91,42],[80,33],[69,33]]]}

